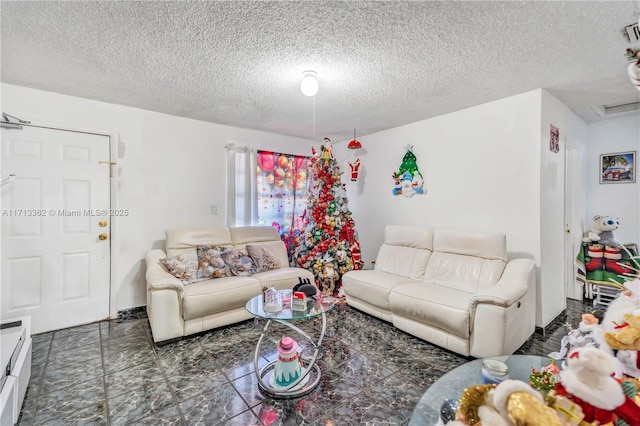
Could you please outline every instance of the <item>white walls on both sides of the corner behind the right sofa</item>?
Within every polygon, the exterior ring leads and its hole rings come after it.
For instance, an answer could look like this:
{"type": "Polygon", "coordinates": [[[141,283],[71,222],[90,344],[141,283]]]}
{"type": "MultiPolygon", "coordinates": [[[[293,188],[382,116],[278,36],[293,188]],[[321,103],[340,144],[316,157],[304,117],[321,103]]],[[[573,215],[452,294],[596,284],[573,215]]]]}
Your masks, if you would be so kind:
{"type": "Polygon", "coordinates": [[[359,138],[362,152],[338,144],[337,155],[365,169],[347,184],[363,260],[375,259],[384,225],[452,227],[503,232],[512,256],[537,264],[536,325],[565,306],[564,140],[584,141],[585,124],[544,90],[359,138]],[[561,150],[549,150],[550,124],[561,150]],[[426,195],[391,194],[406,144],[414,146],[426,195]]]}

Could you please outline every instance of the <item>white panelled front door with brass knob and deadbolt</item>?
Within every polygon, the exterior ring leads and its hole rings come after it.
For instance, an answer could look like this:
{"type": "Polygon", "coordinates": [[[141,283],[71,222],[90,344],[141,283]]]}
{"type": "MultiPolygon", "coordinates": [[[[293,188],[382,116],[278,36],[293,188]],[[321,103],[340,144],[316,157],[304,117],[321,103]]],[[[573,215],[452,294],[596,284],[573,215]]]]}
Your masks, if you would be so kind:
{"type": "Polygon", "coordinates": [[[2,319],[33,333],[109,316],[109,137],[2,128],[2,319]],[[101,236],[102,234],[102,236],[101,236]]]}

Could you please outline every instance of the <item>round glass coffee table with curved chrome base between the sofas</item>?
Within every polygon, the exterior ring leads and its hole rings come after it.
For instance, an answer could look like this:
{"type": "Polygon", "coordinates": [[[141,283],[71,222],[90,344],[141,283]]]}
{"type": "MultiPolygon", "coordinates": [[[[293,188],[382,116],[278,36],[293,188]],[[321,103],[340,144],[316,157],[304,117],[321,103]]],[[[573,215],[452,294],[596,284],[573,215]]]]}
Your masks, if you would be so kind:
{"type": "Polygon", "coordinates": [[[325,314],[333,308],[334,304],[335,299],[333,297],[318,294],[315,298],[307,298],[307,305],[304,311],[294,311],[291,309],[290,304],[285,304],[280,312],[270,313],[265,312],[263,309],[264,302],[262,294],[251,298],[251,300],[247,302],[246,309],[250,314],[256,317],[256,325],[260,323],[260,320],[266,320],[264,327],[260,327],[260,338],[258,339],[253,355],[253,364],[258,378],[258,387],[262,391],[278,398],[295,398],[308,394],[318,386],[318,383],[320,383],[321,371],[320,367],[318,367],[316,363],[320,357],[322,339],[324,338],[327,329],[327,318],[325,314]],[[304,330],[301,330],[293,324],[296,321],[308,320],[315,317],[322,318],[322,329],[320,331],[320,336],[317,338],[310,336],[304,330]],[[277,386],[273,384],[271,376],[274,374],[277,360],[270,361],[261,369],[258,368],[260,348],[263,342],[265,342],[265,340],[269,340],[276,344],[276,346],[280,343],[279,339],[274,338],[274,336],[269,333],[269,327],[274,322],[288,327],[296,334],[297,339],[310,344],[313,351],[310,357],[301,355],[301,375],[288,386],[277,386]]]}

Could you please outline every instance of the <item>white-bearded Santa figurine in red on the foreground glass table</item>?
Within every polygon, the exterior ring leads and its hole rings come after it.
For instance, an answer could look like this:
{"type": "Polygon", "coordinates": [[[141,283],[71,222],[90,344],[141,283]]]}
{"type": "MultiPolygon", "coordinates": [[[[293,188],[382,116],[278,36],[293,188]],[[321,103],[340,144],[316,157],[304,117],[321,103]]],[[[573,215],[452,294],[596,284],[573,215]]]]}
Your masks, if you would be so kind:
{"type": "Polygon", "coordinates": [[[580,406],[585,422],[605,425],[621,419],[629,426],[640,426],[640,406],[625,395],[621,383],[612,377],[615,358],[600,349],[583,346],[574,349],[567,361],[555,390],[580,406]]]}

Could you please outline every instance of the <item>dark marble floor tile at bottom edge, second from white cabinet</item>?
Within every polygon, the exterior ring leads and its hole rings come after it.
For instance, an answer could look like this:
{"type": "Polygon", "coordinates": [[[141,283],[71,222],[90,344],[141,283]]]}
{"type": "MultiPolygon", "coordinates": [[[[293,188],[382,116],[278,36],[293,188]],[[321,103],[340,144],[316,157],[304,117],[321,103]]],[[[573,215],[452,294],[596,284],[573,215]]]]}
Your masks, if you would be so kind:
{"type": "Polygon", "coordinates": [[[166,382],[151,382],[109,398],[109,417],[112,425],[124,425],[170,406],[175,406],[175,401],[169,385],[166,382]]]}

